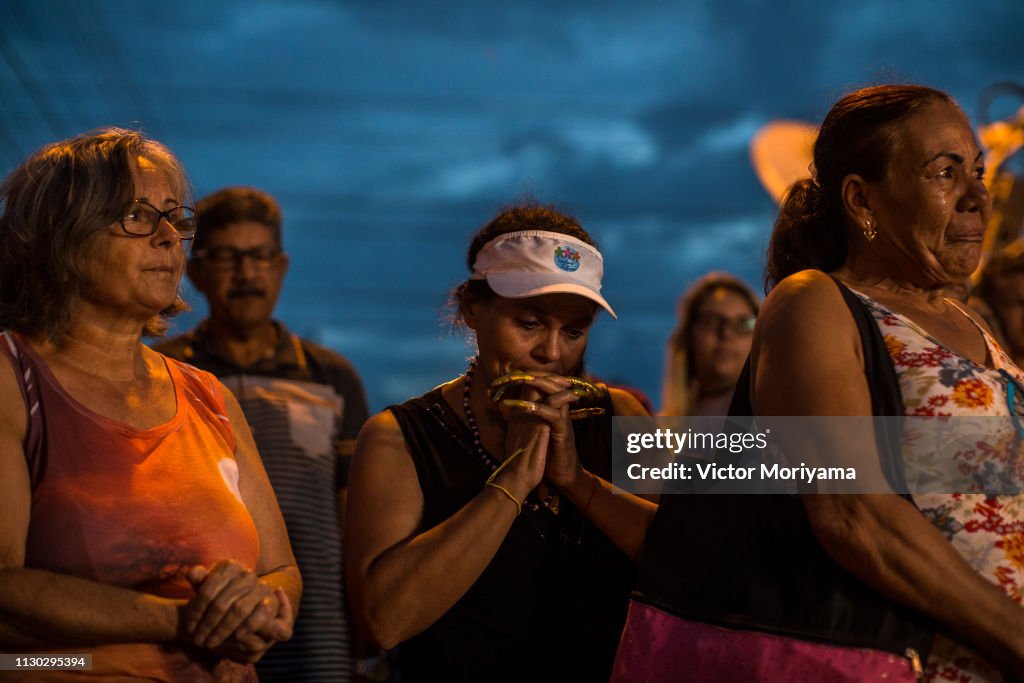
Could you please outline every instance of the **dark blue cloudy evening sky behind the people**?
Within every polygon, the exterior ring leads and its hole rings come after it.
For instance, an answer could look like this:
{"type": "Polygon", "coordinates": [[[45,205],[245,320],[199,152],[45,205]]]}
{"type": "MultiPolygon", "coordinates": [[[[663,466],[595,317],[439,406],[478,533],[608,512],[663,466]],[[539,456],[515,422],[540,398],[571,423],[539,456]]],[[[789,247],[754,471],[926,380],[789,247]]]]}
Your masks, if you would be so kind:
{"type": "MultiPolygon", "coordinates": [[[[1024,3],[5,0],[0,170],[53,139],[140,127],[199,195],[282,201],[279,312],[348,355],[374,409],[454,377],[440,322],[469,236],[523,196],[605,254],[590,364],[657,395],[675,301],[752,284],[773,205],[749,161],[774,119],[916,81],[970,114],[1024,81],[1024,3]]],[[[180,318],[194,324],[204,310],[180,318]]]]}

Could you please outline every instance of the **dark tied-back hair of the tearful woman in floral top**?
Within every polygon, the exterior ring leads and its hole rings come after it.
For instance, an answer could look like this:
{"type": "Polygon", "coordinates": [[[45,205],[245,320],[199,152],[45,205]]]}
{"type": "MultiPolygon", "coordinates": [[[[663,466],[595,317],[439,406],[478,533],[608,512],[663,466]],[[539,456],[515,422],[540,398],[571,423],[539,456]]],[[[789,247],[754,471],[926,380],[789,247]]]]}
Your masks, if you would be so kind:
{"type": "Polygon", "coordinates": [[[899,124],[949,95],[921,85],[855,90],[831,108],[814,142],[814,178],[798,180],[779,208],[765,265],[765,291],[807,268],[826,272],[847,256],[843,179],[885,177],[897,151],[899,124]]]}

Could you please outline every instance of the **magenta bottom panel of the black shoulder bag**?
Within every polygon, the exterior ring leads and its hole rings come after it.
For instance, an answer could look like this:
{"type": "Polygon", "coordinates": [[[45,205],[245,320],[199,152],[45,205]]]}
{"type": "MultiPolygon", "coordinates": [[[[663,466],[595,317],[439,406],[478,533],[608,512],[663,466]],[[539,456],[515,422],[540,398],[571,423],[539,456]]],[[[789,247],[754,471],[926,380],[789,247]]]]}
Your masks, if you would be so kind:
{"type": "Polygon", "coordinates": [[[916,681],[907,657],[690,622],[636,600],[611,683],[916,681]]]}

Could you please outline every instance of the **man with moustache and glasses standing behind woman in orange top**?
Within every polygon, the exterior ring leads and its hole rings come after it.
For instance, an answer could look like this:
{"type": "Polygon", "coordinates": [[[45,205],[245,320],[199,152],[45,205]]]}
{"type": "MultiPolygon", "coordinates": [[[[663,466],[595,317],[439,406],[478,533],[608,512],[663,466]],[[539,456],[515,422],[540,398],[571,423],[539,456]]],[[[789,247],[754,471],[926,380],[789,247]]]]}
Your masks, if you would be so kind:
{"type": "Polygon", "coordinates": [[[261,681],[347,681],[341,531],[348,461],[368,415],[362,384],[345,358],[272,317],[289,263],[273,198],[227,187],[197,212],[188,276],[209,317],[156,348],[217,375],[239,398],[288,525],[302,602],[294,636],[257,671],[261,681]]]}

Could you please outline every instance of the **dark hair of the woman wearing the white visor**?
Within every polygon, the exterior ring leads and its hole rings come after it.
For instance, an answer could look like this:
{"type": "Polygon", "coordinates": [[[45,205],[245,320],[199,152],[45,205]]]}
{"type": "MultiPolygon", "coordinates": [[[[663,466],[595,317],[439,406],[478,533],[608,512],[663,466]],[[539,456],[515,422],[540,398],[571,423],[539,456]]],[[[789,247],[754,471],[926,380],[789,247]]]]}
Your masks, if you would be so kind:
{"type": "MultiPolygon", "coordinates": [[[[469,253],[466,254],[466,267],[470,272],[473,271],[477,254],[480,253],[480,250],[488,242],[502,234],[519,232],[521,230],[561,232],[597,249],[597,243],[583,229],[580,221],[572,216],[550,206],[526,203],[502,209],[486,225],[476,231],[469,243],[469,253]]],[[[487,281],[465,281],[452,291],[450,297],[454,322],[459,323],[462,321],[460,303],[467,300],[467,298],[487,301],[495,296],[495,291],[487,285],[487,281]]]]}

